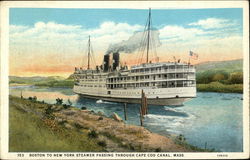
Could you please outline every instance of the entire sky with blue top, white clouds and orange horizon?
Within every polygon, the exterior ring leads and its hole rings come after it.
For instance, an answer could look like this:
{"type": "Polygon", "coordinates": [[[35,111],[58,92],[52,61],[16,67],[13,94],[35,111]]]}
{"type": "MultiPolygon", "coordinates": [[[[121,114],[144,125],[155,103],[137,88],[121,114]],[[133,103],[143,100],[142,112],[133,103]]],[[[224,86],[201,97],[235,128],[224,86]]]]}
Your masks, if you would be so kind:
{"type": "MultiPolygon", "coordinates": [[[[151,9],[159,45],[149,59],[207,61],[242,59],[241,8],[151,9]],[[155,51],[156,50],[156,51],[155,51]]],[[[125,43],[144,30],[147,9],[11,8],[9,14],[10,75],[67,77],[74,67],[86,67],[91,36],[94,65],[110,46],[125,43]]],[[[123,64],[137,64],[138,51],[121,52],[123,64]]],[[[145,57],[144,57],[145,58],[145,57]]],[[[144,62],[144,60],[143,60],[144,62]]]]}

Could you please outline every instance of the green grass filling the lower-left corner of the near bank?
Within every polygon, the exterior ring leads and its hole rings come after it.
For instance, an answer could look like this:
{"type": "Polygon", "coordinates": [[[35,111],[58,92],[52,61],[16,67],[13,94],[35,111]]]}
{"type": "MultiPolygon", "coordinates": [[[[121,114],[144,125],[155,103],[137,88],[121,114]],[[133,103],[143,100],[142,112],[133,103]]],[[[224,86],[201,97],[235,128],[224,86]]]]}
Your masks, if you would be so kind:
{"type": "MultiPolygon", "coordinates": [[[[21,106],[43,107],[47,104],[37,102],[32,106],[28,100],[10,97],[9,106],[9,151],[10,152],[47,152],[47,151],[104,151],[98,141],[88,138],[87,133],[66,129],[50,119],[42,120],[32,112],[26,112],[21,106]],[[47,123],[45,123],[47,122],[47,123]],[[48,125],[49,123],[55,125],[48,125]]],[[[28,108],[26,108],[28,109],[28,108]]],[[[34,111],[34,110],[33,110],[34,111]]]]}

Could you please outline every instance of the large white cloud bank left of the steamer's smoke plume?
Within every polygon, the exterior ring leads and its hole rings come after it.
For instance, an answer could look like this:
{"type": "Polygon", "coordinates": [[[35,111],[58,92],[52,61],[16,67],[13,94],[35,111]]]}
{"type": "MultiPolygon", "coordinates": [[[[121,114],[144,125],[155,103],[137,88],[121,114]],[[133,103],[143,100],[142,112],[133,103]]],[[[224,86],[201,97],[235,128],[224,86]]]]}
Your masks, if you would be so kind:
{"type": "Polygon", "coordinates": [[[10,49],[23,56],[51,53],[84,54],[90,35],[95,53],[104,54],[110,44],[127,40],[140,25],[104,22],[98,28],[37,22],[34,26],[10,25],[10,49]]]}

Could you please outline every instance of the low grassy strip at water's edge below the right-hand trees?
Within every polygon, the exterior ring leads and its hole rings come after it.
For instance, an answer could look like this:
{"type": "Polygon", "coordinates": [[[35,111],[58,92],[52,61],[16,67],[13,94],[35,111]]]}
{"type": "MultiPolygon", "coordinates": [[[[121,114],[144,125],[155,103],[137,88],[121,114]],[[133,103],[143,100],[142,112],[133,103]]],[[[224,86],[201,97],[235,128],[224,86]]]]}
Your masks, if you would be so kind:
{"type": "Polygon", "coordinates": [[[209,84],[197,84],[197,91],[243,93],[243,84],[222,84],[220,82],[212,82],[209,84]]]}

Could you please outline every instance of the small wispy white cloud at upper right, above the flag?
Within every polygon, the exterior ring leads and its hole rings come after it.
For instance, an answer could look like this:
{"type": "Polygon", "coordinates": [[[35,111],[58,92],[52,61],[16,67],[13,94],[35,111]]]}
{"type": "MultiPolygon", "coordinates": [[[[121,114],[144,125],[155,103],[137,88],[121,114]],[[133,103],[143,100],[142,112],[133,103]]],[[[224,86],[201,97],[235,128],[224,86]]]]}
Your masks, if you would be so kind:
{"type": "Polygon", "coordinates": [[[207,18],[199,20],[198,22],[190,23],[190,26],[200,26],[204,29],[213,29],[213,28],[224,28],[228,26],[235,25],[235,22],[229,19],[219,19],[219,18],[207,18]]]}

